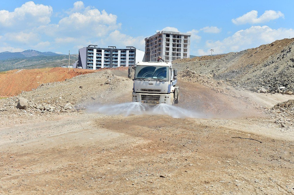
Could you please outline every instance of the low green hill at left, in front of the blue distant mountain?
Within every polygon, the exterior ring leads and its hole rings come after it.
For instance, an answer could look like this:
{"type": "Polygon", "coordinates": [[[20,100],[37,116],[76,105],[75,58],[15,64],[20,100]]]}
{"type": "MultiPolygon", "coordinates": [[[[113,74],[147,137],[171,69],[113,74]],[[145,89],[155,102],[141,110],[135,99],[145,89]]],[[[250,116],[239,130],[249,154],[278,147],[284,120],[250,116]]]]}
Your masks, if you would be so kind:
{"type": "MultiPolygon", "coordinates": [[[[50,55],[50,53],[48,53],[47,55],[50,55]]],[[[78,54],[73,54],[70,56],[70,64],[73,64],[76,60],[78,60],[78,54]]],[[[0,71],[7,71],[12,69],[61,67],[62,65],[68,64],[68,55],[13,58],[0,60],[0,71]]]]}

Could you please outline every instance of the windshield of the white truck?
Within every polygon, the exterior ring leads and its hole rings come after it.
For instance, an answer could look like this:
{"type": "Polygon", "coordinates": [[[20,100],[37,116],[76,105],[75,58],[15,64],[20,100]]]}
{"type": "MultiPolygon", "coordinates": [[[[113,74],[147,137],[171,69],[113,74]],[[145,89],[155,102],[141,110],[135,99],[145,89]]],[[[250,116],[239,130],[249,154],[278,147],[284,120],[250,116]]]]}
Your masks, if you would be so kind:
{"type": "Polygon", "coordinates": [[[168,67],[166,66],[136,66],[135,79],[168,80],[168,77],[168,67]]]}

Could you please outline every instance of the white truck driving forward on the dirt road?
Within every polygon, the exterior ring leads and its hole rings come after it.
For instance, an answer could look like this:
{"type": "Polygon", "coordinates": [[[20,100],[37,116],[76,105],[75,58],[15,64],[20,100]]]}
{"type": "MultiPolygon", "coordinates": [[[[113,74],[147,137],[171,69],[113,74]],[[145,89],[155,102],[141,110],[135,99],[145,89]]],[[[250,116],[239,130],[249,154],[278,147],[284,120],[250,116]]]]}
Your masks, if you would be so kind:
{"type": "Polygon", "coordinates": [[[129,67],[128,78],[134,70],[132,101],[143,104],[178,104],[177,70],[171,62],[138,62],[129,67]]]}

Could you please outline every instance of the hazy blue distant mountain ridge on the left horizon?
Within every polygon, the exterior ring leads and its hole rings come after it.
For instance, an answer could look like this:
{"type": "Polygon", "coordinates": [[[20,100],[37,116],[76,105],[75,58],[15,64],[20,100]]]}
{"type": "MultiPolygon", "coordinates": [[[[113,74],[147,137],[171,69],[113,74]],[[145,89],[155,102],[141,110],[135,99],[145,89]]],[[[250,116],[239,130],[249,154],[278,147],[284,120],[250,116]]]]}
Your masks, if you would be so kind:
{"type": "Polygon", "coordinates": [[[59,56],[63,54],[58,54],[54,52],[40,52],[36,50],[24,50],[23,52],[0,52],[0,60],[7,60],[13,58],[24,58],[24,57],[34,57],[34,56],[59,56]]]}

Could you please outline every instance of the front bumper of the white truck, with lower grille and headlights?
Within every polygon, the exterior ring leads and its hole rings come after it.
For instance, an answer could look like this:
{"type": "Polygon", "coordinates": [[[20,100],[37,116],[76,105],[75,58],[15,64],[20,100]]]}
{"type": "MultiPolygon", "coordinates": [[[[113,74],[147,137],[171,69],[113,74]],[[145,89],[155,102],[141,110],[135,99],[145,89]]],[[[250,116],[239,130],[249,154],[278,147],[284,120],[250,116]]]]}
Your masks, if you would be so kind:
{"type": "Polygon", "coordinates": [[[170,94],[150,94],[137,93],[132,94],[133,102],[141,102],[143,104],[157,105],[157,104],[173,104],[173,93],[170,94]]]}

